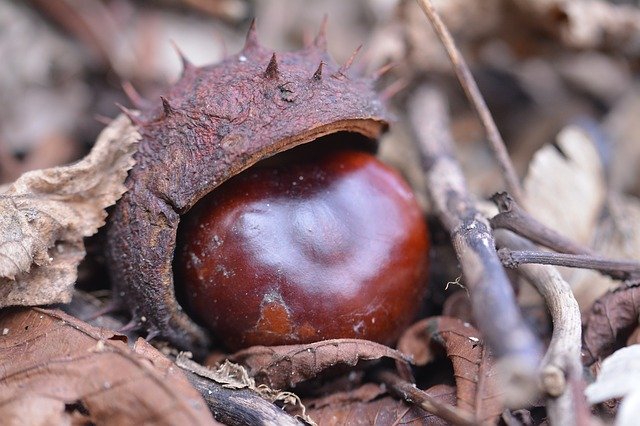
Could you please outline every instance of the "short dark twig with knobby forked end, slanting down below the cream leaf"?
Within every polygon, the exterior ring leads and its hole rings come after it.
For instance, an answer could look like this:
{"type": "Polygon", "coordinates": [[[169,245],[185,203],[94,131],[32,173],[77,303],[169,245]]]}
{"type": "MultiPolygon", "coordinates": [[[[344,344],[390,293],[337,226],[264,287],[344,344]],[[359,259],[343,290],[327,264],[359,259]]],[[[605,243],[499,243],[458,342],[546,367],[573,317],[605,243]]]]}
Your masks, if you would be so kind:
{"type": "Polygon", "coordinates": [[[491,199],[500,210],[500,213],[489,220],[494,230],[498,228],[508,229],[536,244],[559,253],[594,254],[587,247],[569,240],[564,235],[539,222],[520,207],[506,192],[499,192],[493,195],[491,199]]]}

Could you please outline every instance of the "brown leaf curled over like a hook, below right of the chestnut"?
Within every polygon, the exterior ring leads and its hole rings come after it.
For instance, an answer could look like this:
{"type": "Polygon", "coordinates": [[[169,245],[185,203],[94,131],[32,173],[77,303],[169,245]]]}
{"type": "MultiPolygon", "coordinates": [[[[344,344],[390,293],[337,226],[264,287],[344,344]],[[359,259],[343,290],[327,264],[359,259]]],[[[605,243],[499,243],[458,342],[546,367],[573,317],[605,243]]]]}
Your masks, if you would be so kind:
{"type": "Polygon", "coordinates": [[[458,407],[482,423],[497,419],[504,409],[502,395],[493,357],[478,330],[457,318],[426,318],[404,332],[398,350],[423,366],[437,356],[432,345],[442,347],[453,364],[458,407]]]}

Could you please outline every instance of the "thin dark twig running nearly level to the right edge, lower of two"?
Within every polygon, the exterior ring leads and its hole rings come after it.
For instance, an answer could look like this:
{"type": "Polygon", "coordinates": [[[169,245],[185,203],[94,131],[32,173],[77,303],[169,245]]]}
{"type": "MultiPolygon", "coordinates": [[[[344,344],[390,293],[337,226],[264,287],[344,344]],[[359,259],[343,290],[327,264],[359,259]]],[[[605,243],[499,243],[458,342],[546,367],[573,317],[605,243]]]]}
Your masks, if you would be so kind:
{"type": "Polygon", "coordinates": [[[617,280],[640,278],[640,263],[633,260],[613,260],[587,254],[565,254],[537,250],[510,250],[501,248],[498,255],[507,268],[526,263],[594,269],[617,280]]]}

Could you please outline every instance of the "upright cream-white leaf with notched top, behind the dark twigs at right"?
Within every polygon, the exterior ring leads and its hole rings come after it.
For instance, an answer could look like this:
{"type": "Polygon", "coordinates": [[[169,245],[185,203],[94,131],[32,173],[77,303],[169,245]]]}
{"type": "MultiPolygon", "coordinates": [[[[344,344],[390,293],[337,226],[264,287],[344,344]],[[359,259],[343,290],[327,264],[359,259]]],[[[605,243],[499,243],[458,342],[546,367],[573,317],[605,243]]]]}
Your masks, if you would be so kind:
{"type": "MultiPolygon", "coordinates": [[[[591,247],[597,242],[596,230],[606,201],[600,156],[589,134],[577,126],[564,128],[557,136],[556,146],[544,146],[531,161],[524,180],[524,207],[546,226],[591,247]]],[[[613,281],[595,271],[558,270],[571,286],[582,311],[613,285],[613,281]]]]}

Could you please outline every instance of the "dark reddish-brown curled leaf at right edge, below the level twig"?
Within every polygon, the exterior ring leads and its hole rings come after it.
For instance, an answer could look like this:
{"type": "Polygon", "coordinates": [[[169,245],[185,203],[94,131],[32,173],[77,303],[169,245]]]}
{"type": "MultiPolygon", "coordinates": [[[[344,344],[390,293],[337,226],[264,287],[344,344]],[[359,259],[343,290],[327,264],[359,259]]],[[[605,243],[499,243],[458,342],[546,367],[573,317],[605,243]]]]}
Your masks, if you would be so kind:
{"type": "Polygon", "coordinates": [[[591,308],[582,336],[582,362],[591,365],[625,346],[638,326],[640,285],[605,294],[591,308]]]}

